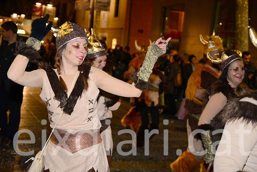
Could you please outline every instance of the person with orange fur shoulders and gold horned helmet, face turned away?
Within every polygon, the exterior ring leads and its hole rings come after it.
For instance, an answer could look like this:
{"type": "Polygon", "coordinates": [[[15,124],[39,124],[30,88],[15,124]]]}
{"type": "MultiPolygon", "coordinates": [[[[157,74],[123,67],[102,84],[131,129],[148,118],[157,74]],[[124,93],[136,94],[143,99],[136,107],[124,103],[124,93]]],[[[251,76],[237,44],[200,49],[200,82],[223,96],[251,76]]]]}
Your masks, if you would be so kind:
{"type": "MultiPolygon", "coordinates": [[[[208,37],[209,41],[205,41],[200,35],[200,41],[204,45],[204,54],[210,53],[212,57],[219,57],[223,51],[223,46],[219,36],[212,35],[208,37]]],[[[202,93],[214,83],[219,77],[219,70],[216,64],[207,61],[206,64],[196,65],[196,69],[192,72],[188,79],[186,87],[186,102],[185,108],[188,115],[185,117],[187,126],[187,135],[197,129],[198,119],[202,112],[202,93]],[[204,81],[204,82],[202,82],[204,81]]],[[[192,143],[188,139],[188,150],[184,151],[174,162],[170,164],[174,172],[191,172],[194,169],[204,170],[204,162],[202,156],[195,156],[196,152],[203,151],[201,138],[194,138],[192,143]],[[193,144],[192,144],[193,143],[193,144]],[[195,150],[191,152],[190,150],[195,150]]]]}

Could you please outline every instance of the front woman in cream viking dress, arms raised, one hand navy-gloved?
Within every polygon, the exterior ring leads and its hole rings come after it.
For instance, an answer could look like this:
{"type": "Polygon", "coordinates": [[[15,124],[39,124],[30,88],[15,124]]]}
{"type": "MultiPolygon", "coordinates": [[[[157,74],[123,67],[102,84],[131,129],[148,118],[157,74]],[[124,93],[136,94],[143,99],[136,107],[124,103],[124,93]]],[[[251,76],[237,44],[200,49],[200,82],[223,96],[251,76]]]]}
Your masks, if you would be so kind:
{"type": "Polygon", "coordinates": [[[7,73],[16,83],[42,88],[40,97],[47,104],[50,127],[56,125],[46,145],[44,169],[50,172],[109,171],[100,137],[98,88],[119,96],[139,97],[141,90],[148,88],[152,67],[165,53],[170,38],[167,41],[159,38],[150,46],[136,80],[128,84],[84,62],[88,38],[81,26],[67,21],[59,28],[51,24],[45,27],[48,18],[46,15],[33,21],[31,35],[26,43],[18,43],[17,56],[7,73]],[[57,69],[43,63],[36,51],[50,29],[58,34],[57,69]],[[29,61],[37,62],[40,69],[25,72],[29,61]]]}

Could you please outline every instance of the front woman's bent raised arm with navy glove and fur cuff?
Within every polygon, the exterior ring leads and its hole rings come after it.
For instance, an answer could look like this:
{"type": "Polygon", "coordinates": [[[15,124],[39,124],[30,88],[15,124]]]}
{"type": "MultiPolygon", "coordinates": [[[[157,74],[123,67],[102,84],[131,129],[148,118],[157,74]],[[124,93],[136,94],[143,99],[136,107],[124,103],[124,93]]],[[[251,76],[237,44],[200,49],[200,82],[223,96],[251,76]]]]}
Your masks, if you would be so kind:
{"type": "Polygon", "coordinates": [[[31,24],[31,35],[26,43],[18,42],[16,45],[16,58],[7,72],[9,79],[14,82],[29,86],[42,87],[45,71],[43,70],[45,63],[40,61],[40,55],[37,52],[40,49],[41,41],[51,29],[52,24],[47,25],[49,14],[40,19],[35,19],[31,24]],[[28,62],[37,63],[39,68],[35,71],[25,72],[28,62]]]}

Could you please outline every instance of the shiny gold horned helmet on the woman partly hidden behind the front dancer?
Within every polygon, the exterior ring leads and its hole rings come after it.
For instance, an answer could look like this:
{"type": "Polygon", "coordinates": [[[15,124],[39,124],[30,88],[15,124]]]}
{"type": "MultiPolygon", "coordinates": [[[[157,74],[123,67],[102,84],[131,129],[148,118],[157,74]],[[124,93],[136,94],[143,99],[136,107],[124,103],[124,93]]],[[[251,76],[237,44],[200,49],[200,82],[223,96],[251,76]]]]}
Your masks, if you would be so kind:
{"type": "Polygon", "coordinates": [[[106,55],[105,48],[95,35],[95,30],[91,28],[91,35],[89,35],[90,32],[87,29],[85,31],[89,40],[89,43],[87,45],[87,58],[92,59],[106,55]]]}

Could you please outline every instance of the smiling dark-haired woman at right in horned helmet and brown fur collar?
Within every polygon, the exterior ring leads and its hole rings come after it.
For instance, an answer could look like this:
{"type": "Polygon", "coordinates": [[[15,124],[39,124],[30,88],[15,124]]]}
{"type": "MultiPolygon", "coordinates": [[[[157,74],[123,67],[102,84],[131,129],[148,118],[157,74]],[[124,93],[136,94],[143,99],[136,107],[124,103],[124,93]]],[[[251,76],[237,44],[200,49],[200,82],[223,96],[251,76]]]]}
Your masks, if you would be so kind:
{"type": "Polygon", "coordinates": [[[242,83],[245,71],[241,55],[238,50],[225,50],[220,58],[214,59],[207,53],[208,59],[219,64],[222,74],[218,81],[205,91],[204,110],[198,121],[199,129],[207,131],[207,134],[205,132],[201,134],[204,147],[207,149],[207,153],[203,155],[206,163],[213,163],[214,160],[213,147],[209,144],[210,139],[214,143],[221,137],[221,133],[212,134],[212,131],[224,128],[224,124],[218,118],[222,108],[229,99],[242,95],[248,90],[247,85],[242,83]]]}

